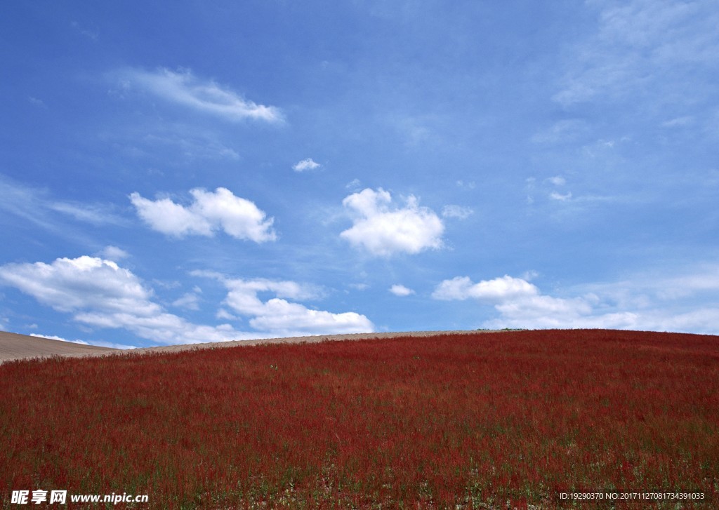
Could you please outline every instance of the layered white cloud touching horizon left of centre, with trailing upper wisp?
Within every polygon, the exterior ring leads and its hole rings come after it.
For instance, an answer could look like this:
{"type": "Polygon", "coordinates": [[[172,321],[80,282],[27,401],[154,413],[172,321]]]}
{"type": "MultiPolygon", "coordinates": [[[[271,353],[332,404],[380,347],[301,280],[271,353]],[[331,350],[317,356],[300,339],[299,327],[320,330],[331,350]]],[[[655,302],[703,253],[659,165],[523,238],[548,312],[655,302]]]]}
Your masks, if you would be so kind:
{"type": "Polygon", "coordinates": [[[375,326],[365,315],[312,310],[297,302],[319,297],[317,289],[297,282],[271,279],[232,279],[221,274],[194,272],[214,277],[228,290],[224,304],[249,318],[249,325],[274,336],[372,333],[375,326]],[[260,293],[274,297],[262,300],[260,293]],[[286,298],[286,299],[285,299],[286,298]]]}

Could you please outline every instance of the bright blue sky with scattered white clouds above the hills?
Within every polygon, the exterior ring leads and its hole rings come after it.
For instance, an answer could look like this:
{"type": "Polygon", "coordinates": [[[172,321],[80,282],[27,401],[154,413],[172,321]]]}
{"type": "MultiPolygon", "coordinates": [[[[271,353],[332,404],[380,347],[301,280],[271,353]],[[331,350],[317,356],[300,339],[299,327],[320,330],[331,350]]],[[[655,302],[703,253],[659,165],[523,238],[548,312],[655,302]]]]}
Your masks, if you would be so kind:
{"type": "Polygon", "coordinates": [[[14,2],[0,329],[719,333],[712,0],[14,2]]]}

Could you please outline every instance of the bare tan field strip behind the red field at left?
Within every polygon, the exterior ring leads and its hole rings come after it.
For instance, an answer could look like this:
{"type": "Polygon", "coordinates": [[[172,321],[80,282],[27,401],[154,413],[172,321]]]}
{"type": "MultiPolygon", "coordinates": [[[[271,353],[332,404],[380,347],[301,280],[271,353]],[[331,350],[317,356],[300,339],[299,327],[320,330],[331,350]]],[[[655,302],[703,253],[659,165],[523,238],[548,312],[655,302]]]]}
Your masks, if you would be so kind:
{"type": "Polygon", "coordinates": [[[108,347],[84,346],[80,343],[48,340],[35,336],[0,331],[0,363],[23,358],[48,358],[50,356],[107,356],[114,354],[142,354],[193,349],[213,349],[237,346],[254,346],[260,343],[316,343],[325,340],[363,340],[366,338],[394,338],[398,336],[432,336],[444,334],[477,333],[477,331],[414,331],[403,333],[352,333],[348,335],[313,335],[290,338],[266,338],[262,340],[236,340],[232,342],[188,343],[178,346],[146,347],[121,350],[108,347]]]}

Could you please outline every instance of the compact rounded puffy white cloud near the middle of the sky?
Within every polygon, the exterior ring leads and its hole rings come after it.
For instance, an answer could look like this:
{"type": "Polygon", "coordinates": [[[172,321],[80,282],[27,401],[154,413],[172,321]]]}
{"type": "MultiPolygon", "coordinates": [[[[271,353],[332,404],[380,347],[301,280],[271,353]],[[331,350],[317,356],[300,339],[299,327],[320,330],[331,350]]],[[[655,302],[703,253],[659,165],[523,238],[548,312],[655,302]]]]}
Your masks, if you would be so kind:
{"type": "Polygon", "coordinates": [[[417,254],[442,246],[444,223],[413,195],[403,208],[393,208],[390,193],[367,188],[344,198],[342,205],[354,215],[354,224],[340,236],[372,255],[417,254]]]}

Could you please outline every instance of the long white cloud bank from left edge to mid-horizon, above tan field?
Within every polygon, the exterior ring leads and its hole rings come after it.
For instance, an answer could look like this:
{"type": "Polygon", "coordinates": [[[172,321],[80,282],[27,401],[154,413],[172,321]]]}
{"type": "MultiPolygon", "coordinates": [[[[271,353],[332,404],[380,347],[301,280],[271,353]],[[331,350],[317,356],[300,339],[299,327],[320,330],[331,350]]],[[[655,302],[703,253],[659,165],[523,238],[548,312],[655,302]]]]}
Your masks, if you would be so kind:
{"type": "MultiPolygon", "coordinates": [[[[355,312],[313,310],[297,300],[321,297],[312,285],[272,279],[229,279],[210,272],[195,276],[219,279],[227,289],[222,320],[247,317],[252,328],[239,331],[230,324],[198,325],[174,315],[155,302],[154,292],[137,275],[116,262],[98,257],[56,259],[50,264],[0,266],[0,284],[19,289],[73,320],[91,328],[124,329],[155,343],[198,343],[249,340],[280,336],[331,333],[371,333],[372,321],[355,312]],[[269,294],[270,296],[265,296],[269,294]],[[237,315],[234,315],[237,314],[237,315]]],[[[176,307],[197,310],[196,287],[173,302],[176,307]]]]}

